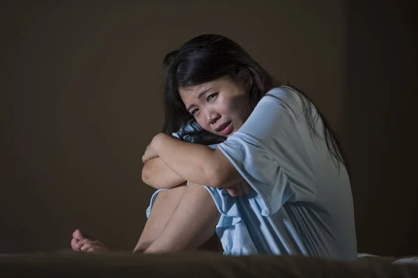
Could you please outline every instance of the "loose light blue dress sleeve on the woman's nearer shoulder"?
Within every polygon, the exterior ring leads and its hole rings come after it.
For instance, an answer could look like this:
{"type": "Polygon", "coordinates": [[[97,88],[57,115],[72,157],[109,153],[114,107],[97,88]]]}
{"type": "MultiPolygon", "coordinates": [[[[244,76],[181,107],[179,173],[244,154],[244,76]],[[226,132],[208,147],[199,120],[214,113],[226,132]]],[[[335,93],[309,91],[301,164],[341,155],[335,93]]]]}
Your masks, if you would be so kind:
{"type": "Polygon", "coordinates": [[[286,201],[314,201],[316,178],[306,140],[309,130],[295,98],[276,88],[258,102],[240,130],[219,150],[247,180],[263,215],[286,201]]]}

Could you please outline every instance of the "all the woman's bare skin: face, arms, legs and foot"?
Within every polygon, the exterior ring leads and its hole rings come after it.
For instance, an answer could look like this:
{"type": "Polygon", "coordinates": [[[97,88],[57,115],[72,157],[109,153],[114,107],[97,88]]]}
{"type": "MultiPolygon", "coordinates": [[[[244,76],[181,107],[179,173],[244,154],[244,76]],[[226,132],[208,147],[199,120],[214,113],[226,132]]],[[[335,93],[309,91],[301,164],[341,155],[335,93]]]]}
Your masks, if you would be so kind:
{"type": "MultiPolygon", "coordinates": [[[[180,88],[179,93],[189,113],[196,118],[202,128],[213,134],[231,136],[239,130],[251,113],[249,96],[245,88],[231,82],[229,78],[217,79],[199,86],[180,88]],[[220,129],[226,125],[230,125],[230,128],[229,132],[224,134],[220,129]]],[[[184,180],[190,180],[191,184],[185,190],[181,189],[182,194],[172,198],[173,204],[170,205],[170,212],[173,213],[170,217],[162,221],[163,214],[161,214],[159,217],[152,217],[151,222],[148,219],[150,224],[144,229],[134,252],[140,250],[140,252],[152,253],[194,249],[206,242],[214,233],[219,212],[210,195],[201,185],[225,187],[231,196],[241,196],[249,192],[249,186],[243,182],[238,171],[220,150],[173,139],[167,134],[157,134],[153,138],[142,160],[146,166],[148,164],[147,171],[143,170],[142,173],[144,182],[148,184],[156,182],[155,184],[158,184],[160,188],[173,188],[184,180]],[[152,177],[155,176],[153,173],[161,173],[156,169],[167,173],[169,179],[153,180],[152,177]],[[202,212],[205,213],[202,214],[202,212]],[[185,229],[191,225],[194,229],[185,229]]],[[[167,192],[170,191],[167,190],[167,192]]],[[[157,198],[160,198],[160,195],[162,194],[159,194],[157,198]]],[[[153,210],[161,211],[157,202],[155,205],[153,210]]],[[[167,211],[164,210],[164,212],[167,215],[167,211]]],[[[76,251],[109,251],[102,242],[83,235],[79,230],[73,233],[71,245],[76,251]]]]}

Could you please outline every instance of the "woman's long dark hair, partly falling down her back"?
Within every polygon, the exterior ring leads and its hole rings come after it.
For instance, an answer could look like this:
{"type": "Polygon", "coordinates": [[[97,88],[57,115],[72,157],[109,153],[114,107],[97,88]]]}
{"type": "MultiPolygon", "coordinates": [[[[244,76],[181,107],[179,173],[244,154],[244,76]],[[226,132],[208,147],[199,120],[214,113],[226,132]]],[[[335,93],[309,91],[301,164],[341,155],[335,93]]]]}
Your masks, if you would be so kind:
{"type": "MultiPolygon", "coordinates": [[[[207,34],[192,38],[178,50],[165,56],[164,68],[164,105],[165,118],[163,132],[178,132],[183,141],[198,144],[218,144],[226,139],[203,130],[189,114],[180,98],[179,88],[196,86],[206,82],[229,77],[231,81],[245,86],[249,92],[251,111],[270,89],[281,86],[237,43],[224,36],[207,34]],[[186,123],[194,126],[193,130],[185,129],[186,123]]],[[[346,164],[339,141],[332,131],[325,116],[318,112],[314,116],[313,102],[300,90],[297,95],[302,100],[302,109],[312,136],[320,137],[315,123],[318,118],[323,123],[323,136],[332,157],[346,164]],[[312,104],[312,105],[311,105],[312,104]]],[[[347,166],[347,165],[346,165],[347,166]]]]}

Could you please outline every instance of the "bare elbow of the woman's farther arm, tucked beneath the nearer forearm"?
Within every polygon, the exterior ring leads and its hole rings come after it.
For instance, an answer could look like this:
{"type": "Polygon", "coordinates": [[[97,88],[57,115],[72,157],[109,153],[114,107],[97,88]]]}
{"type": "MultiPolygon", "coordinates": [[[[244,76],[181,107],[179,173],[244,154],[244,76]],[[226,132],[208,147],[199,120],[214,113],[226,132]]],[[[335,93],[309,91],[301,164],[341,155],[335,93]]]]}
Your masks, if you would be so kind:
{"type": "Polygon", "coordinates": [[[148,160],[142,168],[142,180],[147,185],[160,188],[172,188],[185,182],[160,157],[148,160]]]}

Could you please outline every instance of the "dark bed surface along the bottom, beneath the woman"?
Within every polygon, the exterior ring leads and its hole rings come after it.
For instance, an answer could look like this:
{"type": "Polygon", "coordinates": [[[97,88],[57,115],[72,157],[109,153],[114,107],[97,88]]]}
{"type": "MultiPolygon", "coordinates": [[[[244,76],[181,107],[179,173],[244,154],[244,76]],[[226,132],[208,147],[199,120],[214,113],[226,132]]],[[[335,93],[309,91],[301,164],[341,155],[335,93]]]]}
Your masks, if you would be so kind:
{"type": "Polygon", "coordinates": [[[15,254],[0,256],[0,277],[418,277],[418,257],[364,254],[356,261],[303,256],[173,254],[15,254]]]}

